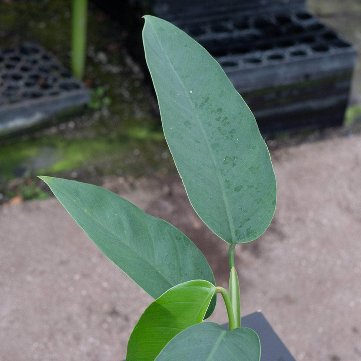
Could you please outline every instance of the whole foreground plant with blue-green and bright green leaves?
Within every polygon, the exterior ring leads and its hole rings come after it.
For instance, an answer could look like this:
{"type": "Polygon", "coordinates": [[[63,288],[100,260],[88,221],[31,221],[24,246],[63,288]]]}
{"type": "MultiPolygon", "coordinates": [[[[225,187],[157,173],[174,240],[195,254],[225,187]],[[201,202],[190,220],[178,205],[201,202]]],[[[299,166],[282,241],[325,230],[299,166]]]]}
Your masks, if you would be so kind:
{"type": "Polygon", "coordinates": [[[126,361],[259,361],[255,331],[241,327],[237,243],[258,238],[276,206],[276,180],[256,121],[220,65],[171,23],[145,16],[145,58],[163,131],[189,200],[229,243],[229,293],[191,240],[101,187],[41,178],[101,251],[155,301],[135,326],[126,361]],[[202,322],[224,299],[229,330],[202,322]]]}

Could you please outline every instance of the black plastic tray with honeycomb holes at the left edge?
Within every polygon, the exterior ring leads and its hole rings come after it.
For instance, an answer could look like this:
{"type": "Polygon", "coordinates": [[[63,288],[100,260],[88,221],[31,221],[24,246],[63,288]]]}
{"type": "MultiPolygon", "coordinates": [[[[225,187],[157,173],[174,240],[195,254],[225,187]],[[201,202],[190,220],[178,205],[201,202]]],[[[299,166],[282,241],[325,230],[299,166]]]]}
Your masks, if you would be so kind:
{"type": "Polygon", "coordinates": [[[89,91],[38,44],[0,50],[0,137],[89,102],[89,91]]]}

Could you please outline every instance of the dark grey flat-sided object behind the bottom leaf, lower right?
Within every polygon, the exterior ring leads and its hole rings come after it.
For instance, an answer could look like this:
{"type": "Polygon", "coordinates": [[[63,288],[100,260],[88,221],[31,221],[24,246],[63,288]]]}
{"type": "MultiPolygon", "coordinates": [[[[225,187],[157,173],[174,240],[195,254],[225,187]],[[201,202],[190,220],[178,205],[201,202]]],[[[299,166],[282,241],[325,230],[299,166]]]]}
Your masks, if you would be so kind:
{"type": "MultiPolygon", "coordinates": [[[[295,361],[262,312],[254,312],[242,317],[241,326],[252,328],[257,332],[261,342],[261,361],[295,361]]],[[[222,327],[227,330],[228,324],[222,327]]]]}

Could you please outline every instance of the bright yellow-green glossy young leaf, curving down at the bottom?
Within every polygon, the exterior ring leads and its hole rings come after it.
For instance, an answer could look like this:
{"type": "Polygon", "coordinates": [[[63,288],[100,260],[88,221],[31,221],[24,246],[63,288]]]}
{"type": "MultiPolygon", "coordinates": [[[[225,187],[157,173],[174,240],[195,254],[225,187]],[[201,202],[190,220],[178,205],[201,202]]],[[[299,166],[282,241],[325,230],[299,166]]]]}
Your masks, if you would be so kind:
{"type": "Polygon", "coordinates": [[[140,317],[128,343],[126,361],[154,361],[179,332],[202,322],[216,287],[195,280],[174,286],[140,317]]]}

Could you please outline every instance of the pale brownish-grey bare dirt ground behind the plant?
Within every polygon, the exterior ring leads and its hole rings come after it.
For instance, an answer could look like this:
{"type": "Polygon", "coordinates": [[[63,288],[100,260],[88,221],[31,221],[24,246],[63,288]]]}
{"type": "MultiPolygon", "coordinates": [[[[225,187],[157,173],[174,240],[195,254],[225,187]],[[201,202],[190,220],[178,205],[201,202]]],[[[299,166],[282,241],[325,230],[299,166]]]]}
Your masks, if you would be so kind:
{"type": "MultiPolygon", "coordinates": [[[[236,248],[242,314],[262,310],[297,360],[361,360],[361,136],[271,152],[274,220],[236,248]]],[[[184,231],[227,286],[227,245],[178,178],[105,178],[104,187],[184,231]]],[[[0,208],[0,360],[113,361],[151,298],[54,198],[0,208]]],[[[227,321],[222,300],[212,320],[227,321]]]]}

